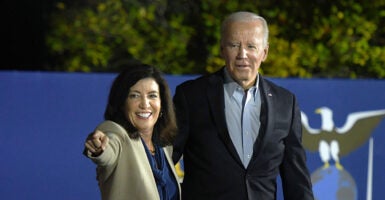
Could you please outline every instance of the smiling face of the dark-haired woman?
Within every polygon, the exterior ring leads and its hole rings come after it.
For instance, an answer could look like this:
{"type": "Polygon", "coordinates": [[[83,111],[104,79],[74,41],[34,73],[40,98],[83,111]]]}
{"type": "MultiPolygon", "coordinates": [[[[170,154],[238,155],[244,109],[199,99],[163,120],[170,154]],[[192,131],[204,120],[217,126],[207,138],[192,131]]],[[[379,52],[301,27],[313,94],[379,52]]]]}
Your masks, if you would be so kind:
{"type": "Polygon", "coordinates": [[[139,80],[130,88],[124,112],[142,134],[152,134],[161,110],[159,85],[153,78],[139,80]]]}

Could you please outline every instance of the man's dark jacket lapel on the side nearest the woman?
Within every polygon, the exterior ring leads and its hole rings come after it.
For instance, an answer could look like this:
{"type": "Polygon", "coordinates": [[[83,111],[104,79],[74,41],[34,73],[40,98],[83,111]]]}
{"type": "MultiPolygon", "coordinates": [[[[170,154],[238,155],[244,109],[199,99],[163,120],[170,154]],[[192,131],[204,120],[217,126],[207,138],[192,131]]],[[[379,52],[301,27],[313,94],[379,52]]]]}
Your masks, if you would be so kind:
{"type": "Polygon", "coordinates": [[[243,166],[241,159],[239,158],[239,155],[234,147],[234,144],[231,141],[226,126],[223,77],[223,69],[210,76],[206,94],[211,108],[211,116],[213,116],[214,122],[218,128],[219,138],[221,138],[221,140],[225,144],[227,150],[230,152],[230,155],[240,165],[243,166]]]}

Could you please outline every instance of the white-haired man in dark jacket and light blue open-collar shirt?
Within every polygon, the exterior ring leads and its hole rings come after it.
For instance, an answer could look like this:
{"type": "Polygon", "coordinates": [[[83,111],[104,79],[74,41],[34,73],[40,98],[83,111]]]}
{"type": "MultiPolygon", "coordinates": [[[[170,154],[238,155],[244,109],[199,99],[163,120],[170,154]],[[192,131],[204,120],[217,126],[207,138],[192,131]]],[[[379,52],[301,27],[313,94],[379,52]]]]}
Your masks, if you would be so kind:
{"type": "Polygon", "coordinates": [[[313,199],[295,96],[258,73],[269,50],[266,21],[231,14],[220,46],[225,67],[182,83],[174,96],[182,199],[276,199],[279,174],[285,199],[313,199]]]}

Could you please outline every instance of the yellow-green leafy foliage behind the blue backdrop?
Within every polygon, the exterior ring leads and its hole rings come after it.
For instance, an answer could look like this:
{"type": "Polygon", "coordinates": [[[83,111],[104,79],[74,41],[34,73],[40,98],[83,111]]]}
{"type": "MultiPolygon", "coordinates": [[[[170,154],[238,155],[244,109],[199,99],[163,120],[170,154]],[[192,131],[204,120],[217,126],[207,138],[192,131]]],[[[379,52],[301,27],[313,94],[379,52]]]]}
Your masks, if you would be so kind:
{"type": "Polygon", "coordinates": [[[56,70],[115,71],[135,62],[168,74],[223,66],[223,18],[248,10],[266,18],[274,77],[385,78],[382,1],[105,0],[59,3],[46,44],[56,70]]]}

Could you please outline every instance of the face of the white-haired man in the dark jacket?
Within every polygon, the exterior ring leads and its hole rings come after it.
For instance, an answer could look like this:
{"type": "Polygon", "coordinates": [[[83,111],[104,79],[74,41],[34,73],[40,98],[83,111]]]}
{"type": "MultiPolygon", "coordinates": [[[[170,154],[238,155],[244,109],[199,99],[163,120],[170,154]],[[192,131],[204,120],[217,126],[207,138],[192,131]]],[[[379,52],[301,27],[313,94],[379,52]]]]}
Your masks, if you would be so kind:
{"type": "Polygon", "coordinates": [[[263,45],[262,22],[231,22],[222,37],[221,56],[227,70],[244,89],[250,88],[268,53],[268,46],[263,45]]]}

